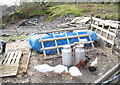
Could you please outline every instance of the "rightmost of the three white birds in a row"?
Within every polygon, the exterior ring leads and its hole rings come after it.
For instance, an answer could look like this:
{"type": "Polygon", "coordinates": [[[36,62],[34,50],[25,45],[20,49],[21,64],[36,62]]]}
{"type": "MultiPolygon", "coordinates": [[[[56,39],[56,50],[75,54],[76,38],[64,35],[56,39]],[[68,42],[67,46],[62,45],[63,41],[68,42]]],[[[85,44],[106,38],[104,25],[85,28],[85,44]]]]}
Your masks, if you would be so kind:
{"type": "Polygon", "coordinates": [[[72,66],[69,68],[69,73],[71,75],[71,79],[82,76],[82,73],[80,72],[80,70],[75,66],[72,66]]]}

